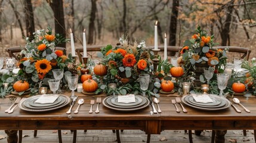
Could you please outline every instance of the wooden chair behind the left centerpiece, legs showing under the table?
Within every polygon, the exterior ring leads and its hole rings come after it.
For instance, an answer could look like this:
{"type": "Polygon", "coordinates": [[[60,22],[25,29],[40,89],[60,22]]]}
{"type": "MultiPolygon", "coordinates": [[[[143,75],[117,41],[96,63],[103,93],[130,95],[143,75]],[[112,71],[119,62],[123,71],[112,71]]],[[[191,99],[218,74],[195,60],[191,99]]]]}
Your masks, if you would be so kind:
{"type": "MultiPolygon", "coordinates": [[[[20,53],[20,51],[23,48],[21,46],[16,46],[16,47],[11,47],[11,48],[7,48],[6,51],[9,54],[9,57],[14,57],[17,58],[17,54],[20,53]]],[[[62,50],[64,54],[66,54],[66,48],[63,47],[56,47],[56,49],[58,50],[62,50]]],[[[38,130],[34,130],[34,136],[36,137],[38,133],[38,130]]],[[[18,130],[18,143],[22,142],[22,130],[18,130]]],[[[58,142],[62,142],[61,139],[61,130],[58,130],[58,142]]]]}

